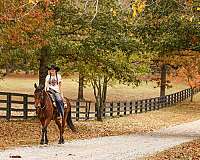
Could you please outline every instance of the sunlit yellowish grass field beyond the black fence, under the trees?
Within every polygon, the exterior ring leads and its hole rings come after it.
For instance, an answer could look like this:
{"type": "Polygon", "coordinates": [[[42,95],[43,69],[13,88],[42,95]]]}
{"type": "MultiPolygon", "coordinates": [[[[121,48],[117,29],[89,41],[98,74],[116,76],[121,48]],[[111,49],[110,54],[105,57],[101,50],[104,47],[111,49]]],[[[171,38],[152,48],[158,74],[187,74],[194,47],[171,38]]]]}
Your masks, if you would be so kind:
{"type": "MultiPolygon", "coordinates": [[[[6,92],[19,92],[33,94],[34,83],[38,82],[37,77],[28,77],[25,75],[8,76],[4,80],[0,80],[1,91],[6,92]]],[[[136,100],[143,98],[157,97],[160,94],[160,88],[154,88],[155,83],[149,82],[148,84],[142,83],[139,87],[126,86],[122,84],[112,84],[108,87],[107,100],[136,100]]],[[[184,84],[174,84],[172,88],[167,89],[166,93],[171,94],[187,88],[184,84]]],[[[63,79],[63,92],[64,95],[70,99],[77,99],[78,80],[76,77],[68,77],[63,79]]],[[[84,97],[86,100],[93,100],[92,87],[87,86],[84,88],[84,97]]]]}

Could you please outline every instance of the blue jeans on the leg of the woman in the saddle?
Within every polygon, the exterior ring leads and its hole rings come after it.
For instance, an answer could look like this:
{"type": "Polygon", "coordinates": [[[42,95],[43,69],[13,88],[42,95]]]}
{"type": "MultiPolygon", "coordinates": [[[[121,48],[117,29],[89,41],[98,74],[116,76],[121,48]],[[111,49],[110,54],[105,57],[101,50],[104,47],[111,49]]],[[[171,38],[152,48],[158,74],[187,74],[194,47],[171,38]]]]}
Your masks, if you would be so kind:
{"type": "Polygon", "coordinates": [[[64,117],[64,102],[61,97],[61,94],[54,91],[53,89],[49,89],[49,91],[53,94],[53,98],[54,101],[56,102],[59,114],[61,114],[61,116],[64,117]]]}

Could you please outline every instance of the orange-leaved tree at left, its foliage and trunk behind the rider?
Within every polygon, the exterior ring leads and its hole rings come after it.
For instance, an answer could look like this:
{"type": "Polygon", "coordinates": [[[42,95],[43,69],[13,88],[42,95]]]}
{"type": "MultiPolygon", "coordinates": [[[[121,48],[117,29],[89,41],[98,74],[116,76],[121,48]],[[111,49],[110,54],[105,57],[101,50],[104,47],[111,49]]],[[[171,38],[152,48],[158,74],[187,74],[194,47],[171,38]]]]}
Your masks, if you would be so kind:
{"type": "MultiPolygon", "coordinates": [[[[41,1],[3,1],[1,21],[1,51],[4,58],[7,56],[10,64],[10,57],[15,58],[12,52],[17,52],[22,62],[16,63],[15,69],[23,68],[23,63],[34,64],[40,68],[40,83],[44,84],[44,77],[47,74],[46,66],[48,64],[47,48],[50,44],[49,33],[53,27],[52,12],[46,7],[46,3],[41,1]],[[32,5],[34,2],[34,5],[32,5]],[[40,60],[40,67],[37,63],[32,63],[33,59],[23,61],[25,55],[40,60]],[[20,67],[21,66],[21,67],[20,67]]],[[[30,67],[30,66],[26,66],[30,67]]],[[[34,67],[35,68],[35,67],[34,67]]],[[[29,69],[32,69],[30,67],[29,69]]]]}

